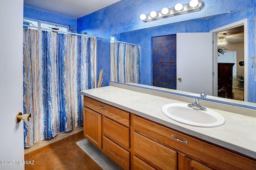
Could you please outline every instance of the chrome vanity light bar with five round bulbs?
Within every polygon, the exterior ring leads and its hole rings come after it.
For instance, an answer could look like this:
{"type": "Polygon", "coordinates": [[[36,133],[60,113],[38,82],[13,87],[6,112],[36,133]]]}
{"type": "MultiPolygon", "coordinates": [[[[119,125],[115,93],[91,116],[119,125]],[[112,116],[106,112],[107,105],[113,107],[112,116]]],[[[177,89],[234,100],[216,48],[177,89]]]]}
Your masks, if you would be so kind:
{"type": "Polygon", "coordinates": [[[190,12],[200,11],[204,8],[204,2],[201,0],[190,0],[188,4],[176,4],[173,8],[163,8],[161,11],[152,11],[150,14],[141,14],[140,19],[144,22],[160,20],[190,12]]]}

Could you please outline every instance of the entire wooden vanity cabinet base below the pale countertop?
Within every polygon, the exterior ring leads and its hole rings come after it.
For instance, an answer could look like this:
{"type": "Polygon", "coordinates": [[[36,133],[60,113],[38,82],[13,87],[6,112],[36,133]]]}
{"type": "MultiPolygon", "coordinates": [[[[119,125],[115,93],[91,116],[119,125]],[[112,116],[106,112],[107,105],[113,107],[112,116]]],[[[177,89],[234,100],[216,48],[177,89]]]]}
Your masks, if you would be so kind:
{"type": "Polygon", "coordinates": [[[86,96],[84,137],[124,170],[256,169],[253,158],[86,96]]]}

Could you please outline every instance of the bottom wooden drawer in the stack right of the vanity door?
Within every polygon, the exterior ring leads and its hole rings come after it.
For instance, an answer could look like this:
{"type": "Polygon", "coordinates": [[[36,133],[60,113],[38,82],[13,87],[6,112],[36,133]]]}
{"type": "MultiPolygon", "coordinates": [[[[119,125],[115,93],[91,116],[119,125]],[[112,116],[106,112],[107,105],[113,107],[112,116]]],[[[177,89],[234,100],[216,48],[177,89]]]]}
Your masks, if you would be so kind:
{"type": "Polygon", "coordinates": [[[103,136],[102,151],[121,168],[129,170],[130,153],[103,136]]]}

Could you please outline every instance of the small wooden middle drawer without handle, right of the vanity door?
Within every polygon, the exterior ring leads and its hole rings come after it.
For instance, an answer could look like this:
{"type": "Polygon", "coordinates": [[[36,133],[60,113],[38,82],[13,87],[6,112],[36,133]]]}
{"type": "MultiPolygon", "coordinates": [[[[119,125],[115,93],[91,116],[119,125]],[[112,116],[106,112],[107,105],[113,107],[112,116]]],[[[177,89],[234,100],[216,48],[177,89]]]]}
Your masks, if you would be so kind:
{"type": "Polygon", "coordinates": [[[111,141],[114,141],[126,150],[130,148],[130,129],[103,117],[103,136],[107,137],[111,141]]]}

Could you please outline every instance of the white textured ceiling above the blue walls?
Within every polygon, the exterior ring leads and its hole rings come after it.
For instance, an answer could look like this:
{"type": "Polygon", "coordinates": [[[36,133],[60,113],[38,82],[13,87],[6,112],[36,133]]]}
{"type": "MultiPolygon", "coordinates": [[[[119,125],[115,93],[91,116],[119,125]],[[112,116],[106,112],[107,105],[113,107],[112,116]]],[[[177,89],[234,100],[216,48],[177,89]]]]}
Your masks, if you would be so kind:
{"type": "Polygon", "coordinates": [[[24,6],[80,18],[120,0],[24,0],[24,6]]]}

